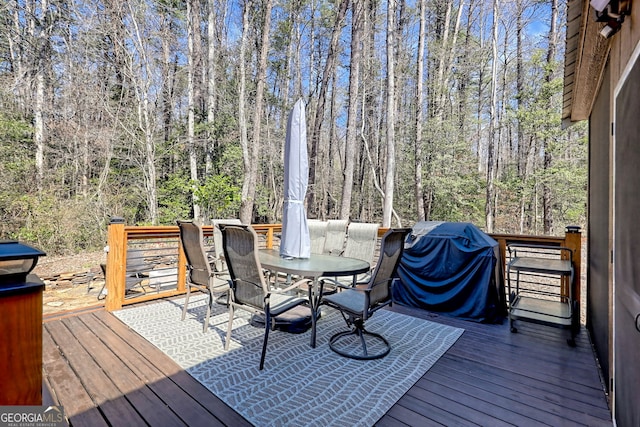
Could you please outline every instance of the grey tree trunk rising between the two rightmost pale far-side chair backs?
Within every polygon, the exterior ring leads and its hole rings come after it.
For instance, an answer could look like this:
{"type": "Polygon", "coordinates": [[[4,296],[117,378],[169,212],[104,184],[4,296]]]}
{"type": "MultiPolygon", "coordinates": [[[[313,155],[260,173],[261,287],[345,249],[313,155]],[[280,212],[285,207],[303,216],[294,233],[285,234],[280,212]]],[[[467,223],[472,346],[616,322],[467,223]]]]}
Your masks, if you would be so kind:
{"type": "Polygon", "coordinates": [[[357,144],[357,115],[358,115],[358,85],[360,81],[360,60],[362,37],[362,21],[364,19],[364,0],[352,2],[351,29],[351,71],[349,73],[349,108],[347,117],[347,138],[344,150],[344,183],[342,186],[342,201],[340,204],[340,218],[348,220],[351,216],[351,194],[353,192],[353,178],[355,171],[355,156],[357,144]]]}

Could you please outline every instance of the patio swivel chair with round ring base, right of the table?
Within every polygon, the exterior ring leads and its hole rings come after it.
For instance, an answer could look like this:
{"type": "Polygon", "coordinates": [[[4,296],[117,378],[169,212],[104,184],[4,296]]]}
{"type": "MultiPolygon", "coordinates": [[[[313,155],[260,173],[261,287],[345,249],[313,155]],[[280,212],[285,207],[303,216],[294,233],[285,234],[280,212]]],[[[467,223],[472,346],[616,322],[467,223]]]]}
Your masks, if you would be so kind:
{"type": "Polygon", "coordinates": [[[329,347],[334,352],[351,359],[372,360],[391,351],[386,338],[367,331],[364,325],[377,310],[391,305],[393,276],[400,263],[405,236],[410,232],[410,228],[389,229],[382,236],[380,257],[366,286],[345,289],[323,298],[324,304],[340,310],[350,328],[329,339],[329,347]]]}

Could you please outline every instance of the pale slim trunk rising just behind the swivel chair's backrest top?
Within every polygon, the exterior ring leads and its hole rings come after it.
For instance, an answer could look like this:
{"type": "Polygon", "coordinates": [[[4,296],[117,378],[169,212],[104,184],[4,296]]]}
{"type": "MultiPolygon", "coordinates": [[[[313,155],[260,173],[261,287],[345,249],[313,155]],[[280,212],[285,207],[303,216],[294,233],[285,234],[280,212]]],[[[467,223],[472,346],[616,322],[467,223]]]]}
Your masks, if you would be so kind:
{"type": "Polygon", "coordinates": [[[396,110],[396,88],[395,88],[395,55],[394,55],[394,32],[396,0],[387,1],[387,171],[384,183],[384,203],[382,208],[382,226],[391,227],[391,216],[393,213],[393,196],[395,190],[395,110],[396,110]]]}

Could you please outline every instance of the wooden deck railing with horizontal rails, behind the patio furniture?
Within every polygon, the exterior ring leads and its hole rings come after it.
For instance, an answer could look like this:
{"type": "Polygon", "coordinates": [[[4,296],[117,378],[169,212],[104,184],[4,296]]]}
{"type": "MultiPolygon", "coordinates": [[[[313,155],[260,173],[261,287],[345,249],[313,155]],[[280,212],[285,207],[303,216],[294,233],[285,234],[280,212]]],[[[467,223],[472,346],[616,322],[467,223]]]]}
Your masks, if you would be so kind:
{"type": "MultiPolygon", "coordinates": [[[[276,244],[276,235],[282,231],[281,224],[253,224],[253,228],[261,237],[261,245],[265,248],[273,248],[276,244]]],[[[387,228],[380,228],[378,236],[381,237],[387,228]]],[[[213,226],[203,226],[205,238],[213,235],[213,226]]],[[[573,250],[573,262],[576,268],[576,290],[574,295],[579,301],[580,297],[580,259],[581,259],[581,233],[577,230],[567,230],[562,237],[552,236],[525,236],[509,234],[490,234],[500,248],[501,265],[504,266],[507,257],[507,245],[509,243],[537,243],[546,245],[566,246],[573,250]]],[[[107,233],[107,268],[105,308],[109,311],[118,310],[123,305],[139,303],[157,298],[181,295],[185,293],[186,285],[186,258],[180,244],[180,231],[178,226],[130,226],[125,225],[124,220],[114,218],[108,227],[107,233]],[[170,258],[169,267],[175,268],[175,286],[158,292],[146,292],[141,295],[126,295],[127,277],[127,251],[134,246],[144,245],[147,252],[160,250],[165,258],[170,258]]],[[[143,250],[144,252],[144,250],[143,250]]],[[[165,267],[167,262],[164,263],[165,267]]],[[[153,268],[151,266],[150,268],[153,268]]]]}

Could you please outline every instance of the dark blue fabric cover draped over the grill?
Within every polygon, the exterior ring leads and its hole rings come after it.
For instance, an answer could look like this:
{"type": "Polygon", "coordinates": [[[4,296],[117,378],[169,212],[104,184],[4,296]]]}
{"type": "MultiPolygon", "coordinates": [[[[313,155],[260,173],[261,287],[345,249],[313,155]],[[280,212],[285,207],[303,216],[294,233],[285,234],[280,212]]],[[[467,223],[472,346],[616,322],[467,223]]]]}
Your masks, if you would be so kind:
{"type": "Polygon", "coordinates": [[[506,315],[498,242],[470,223],[421,221],[407,236],[394,302],[476,322],[506,315]]]}

